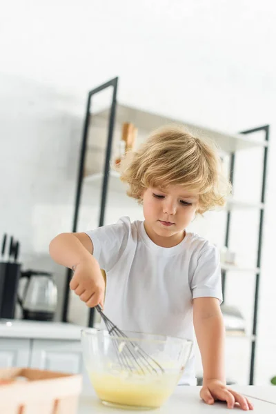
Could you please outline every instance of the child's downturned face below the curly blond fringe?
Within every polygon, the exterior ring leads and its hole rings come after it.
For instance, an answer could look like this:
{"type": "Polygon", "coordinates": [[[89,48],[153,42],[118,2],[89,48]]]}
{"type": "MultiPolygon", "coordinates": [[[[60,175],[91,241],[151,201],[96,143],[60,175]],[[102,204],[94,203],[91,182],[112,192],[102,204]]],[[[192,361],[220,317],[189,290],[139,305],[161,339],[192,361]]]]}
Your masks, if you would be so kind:
{"type": "Polygon", "coordinates": [[[143,209],[146,230],[152,241],[160,246],[174,246],[181,242],[183,232],[194,219],[198,205],[199,194],[185,190],[183,186],[147,188],[143,195],[143,209]]]}

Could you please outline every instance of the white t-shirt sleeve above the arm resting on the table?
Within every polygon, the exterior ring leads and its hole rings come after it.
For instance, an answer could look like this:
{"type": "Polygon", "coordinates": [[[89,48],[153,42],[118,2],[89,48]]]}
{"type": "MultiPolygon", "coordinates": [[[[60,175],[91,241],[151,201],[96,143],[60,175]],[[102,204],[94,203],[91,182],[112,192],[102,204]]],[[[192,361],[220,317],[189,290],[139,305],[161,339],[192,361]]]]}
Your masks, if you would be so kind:
{"type": "Polygon", "coordinates": [[[204,246],[191,281],[192,297],[217,297],[222,302],[219,252],[212,244],[204,246]]]}

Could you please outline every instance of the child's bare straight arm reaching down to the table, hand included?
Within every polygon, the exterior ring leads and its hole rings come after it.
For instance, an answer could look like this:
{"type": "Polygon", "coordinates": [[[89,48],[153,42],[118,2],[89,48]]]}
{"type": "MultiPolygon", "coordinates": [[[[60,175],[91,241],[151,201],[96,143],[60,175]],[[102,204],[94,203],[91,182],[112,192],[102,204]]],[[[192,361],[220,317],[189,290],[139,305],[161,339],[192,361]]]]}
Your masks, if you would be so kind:
{"type": "Polygon", "coordinates": [[[193,322],[204,369],[200,396],[208,404],[215,400],[226,401],[228,408],[238,402],[244,410],[253,409],[242,395],[226,386],[224,372],[224,321],[215,297],[193,299],[193,322]]]}

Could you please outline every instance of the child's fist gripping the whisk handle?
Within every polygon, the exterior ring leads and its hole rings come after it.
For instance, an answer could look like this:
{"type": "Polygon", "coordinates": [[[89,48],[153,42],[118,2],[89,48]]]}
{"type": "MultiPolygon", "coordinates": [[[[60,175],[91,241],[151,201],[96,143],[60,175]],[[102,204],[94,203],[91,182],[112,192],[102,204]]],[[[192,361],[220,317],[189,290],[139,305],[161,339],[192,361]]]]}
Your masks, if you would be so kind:
{"type": "Polygon", "coordinates": [[[86,303],[89,308],[100,304],[103,308],[104,290],[106,288],[99,264],[94,257],[79,262],[70,282],[70,289],[86,303]]]}

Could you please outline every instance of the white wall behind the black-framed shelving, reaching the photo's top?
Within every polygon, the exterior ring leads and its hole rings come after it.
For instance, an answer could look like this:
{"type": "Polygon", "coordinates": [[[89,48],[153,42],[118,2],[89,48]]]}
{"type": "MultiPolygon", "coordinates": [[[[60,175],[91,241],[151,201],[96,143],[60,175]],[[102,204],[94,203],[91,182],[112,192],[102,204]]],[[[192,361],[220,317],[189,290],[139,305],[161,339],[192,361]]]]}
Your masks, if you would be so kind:
{"type": "MultiPolygon", "coordinates": [[[[26,0],[6,2],[0,15],[0,231],[19,237],[26,266],[63,273],[50,264],[48,241],[72,225],[90,88],[119,75],[122,103],[233,132],[271,124],[259,384],[276,373],[275,14],[273,1],[256,0],[26,0]]],[[[249,164],[242,164],[245,175],[249,164]]],[[[237,222],[245,235],[245,219],[237,222]]],[[[250,240],[243,242],[248,255],[250,240]]],[[[230,284],[228,295],[235,300],[238,290],[250,308],[252,281],[233,280],[239,286],[230,284]]]]}

